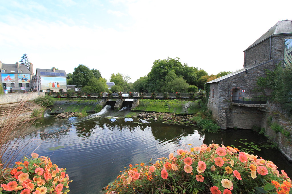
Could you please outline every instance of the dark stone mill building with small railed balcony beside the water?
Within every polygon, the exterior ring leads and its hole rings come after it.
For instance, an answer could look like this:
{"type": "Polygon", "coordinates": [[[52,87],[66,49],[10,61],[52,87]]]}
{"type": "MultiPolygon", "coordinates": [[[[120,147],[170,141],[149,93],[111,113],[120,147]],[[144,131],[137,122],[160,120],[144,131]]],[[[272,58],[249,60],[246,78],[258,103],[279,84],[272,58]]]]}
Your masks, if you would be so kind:
{"type": "MultiPolygon", "coordinates": [[[[261,126],[269,102],[259,96],[269,93],[256,90],[257,79],[284,61],[285,43],[291,40],[292,20],[277,22],[244,51],[243,69],[207,83],[210,86],[208,108],[221,128],[261,126]]],[[[290,66],[289,61],[282,65],[290,66]]]]}

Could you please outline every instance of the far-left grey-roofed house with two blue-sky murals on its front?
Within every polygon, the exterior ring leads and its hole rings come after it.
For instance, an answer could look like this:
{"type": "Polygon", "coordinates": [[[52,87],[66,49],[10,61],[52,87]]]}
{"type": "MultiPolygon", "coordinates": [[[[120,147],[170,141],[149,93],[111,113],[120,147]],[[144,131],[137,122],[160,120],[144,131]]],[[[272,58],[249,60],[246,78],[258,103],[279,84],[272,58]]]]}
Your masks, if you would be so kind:
{"type": "Polygon", "coordinates": [[[29,69],[25,65],[6,64],[0,61],[1,85],[4,90],[29,91],[32,89],[33,65],[30,63],[29,69]]]}

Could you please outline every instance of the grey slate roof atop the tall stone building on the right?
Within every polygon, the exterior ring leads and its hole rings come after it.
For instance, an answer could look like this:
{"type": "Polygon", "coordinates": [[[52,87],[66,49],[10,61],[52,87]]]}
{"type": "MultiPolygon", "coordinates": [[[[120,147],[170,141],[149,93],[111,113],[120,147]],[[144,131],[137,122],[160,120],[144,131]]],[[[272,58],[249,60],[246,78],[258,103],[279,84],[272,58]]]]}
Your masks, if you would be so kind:
{"type": "Polygon", "coordinates": [[[279,21],[277,22],[277,24],[275,24],[272,28],[270,28],[266,33],[264,33],[264,35],[262,35],[258,40],[256,40],[256,42],[254,42],[244,51],[266,40],[267,38],[272,37],[275,34],[289,34],[289,33],[292,33],[292,20],[279,21]]]}

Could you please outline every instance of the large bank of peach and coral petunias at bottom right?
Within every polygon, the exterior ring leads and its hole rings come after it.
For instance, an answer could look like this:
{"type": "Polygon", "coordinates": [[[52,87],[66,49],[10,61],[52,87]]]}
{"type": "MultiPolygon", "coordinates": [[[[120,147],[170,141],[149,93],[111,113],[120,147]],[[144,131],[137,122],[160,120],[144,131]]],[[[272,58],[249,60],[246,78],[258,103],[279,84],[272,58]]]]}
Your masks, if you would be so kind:
{"type": "Polygon", "coordinates": [[[289,193],[290,178],[271,161],[224,145],[189,145],[154,164],[130,164],[107,193],[289,193]]]}

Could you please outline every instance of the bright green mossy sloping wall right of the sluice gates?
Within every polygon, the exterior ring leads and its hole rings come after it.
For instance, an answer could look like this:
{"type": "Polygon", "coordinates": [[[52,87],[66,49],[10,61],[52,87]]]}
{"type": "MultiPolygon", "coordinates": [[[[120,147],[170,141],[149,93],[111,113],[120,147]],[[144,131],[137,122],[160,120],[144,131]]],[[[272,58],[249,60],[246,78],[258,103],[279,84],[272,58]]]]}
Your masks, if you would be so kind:
{"type": "Polygon", "coordinates": [[[153,111],[164,113],[195,114],[200,105],[197,101],[189,100],[149,100],[140,99],[139,105],[134,111],[153,111]]]}

